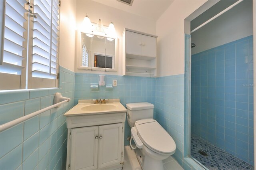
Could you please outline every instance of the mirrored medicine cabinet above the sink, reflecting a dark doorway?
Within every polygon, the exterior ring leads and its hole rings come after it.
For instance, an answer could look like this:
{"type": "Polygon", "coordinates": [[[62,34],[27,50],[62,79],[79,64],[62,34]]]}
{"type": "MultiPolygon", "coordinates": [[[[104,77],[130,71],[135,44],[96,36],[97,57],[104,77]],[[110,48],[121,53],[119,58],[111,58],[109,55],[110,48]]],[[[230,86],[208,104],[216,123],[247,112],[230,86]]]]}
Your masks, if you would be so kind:
{"type": "Polygon", "coordinates": [[[80,36],[80,69],[114,71],[116,40],[83,32],[80,36]]]}

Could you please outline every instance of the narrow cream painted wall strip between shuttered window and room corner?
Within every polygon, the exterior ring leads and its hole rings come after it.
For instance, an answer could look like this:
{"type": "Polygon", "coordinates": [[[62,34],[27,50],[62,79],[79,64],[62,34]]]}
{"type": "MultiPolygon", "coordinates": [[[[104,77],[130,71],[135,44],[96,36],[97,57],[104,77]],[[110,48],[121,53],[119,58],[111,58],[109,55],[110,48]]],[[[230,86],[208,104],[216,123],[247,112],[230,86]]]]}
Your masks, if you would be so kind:
{"type": "Polygon", "coordinates": [[[60,7],[60,59],[62,67],[74,71],[76,42],[76,1],[62,0],[60,7]]]}

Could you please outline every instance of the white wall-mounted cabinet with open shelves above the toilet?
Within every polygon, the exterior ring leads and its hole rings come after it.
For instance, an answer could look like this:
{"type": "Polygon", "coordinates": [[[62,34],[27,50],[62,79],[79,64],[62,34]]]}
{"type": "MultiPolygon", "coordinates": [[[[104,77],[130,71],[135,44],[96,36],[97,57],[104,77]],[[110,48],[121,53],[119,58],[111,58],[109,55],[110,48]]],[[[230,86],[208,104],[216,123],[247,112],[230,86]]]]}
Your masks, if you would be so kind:
{"type": "Polygon", "coordinates": [[[156,76],[157,36],[125,28],[122,35],[122,75],[156,76]]]}

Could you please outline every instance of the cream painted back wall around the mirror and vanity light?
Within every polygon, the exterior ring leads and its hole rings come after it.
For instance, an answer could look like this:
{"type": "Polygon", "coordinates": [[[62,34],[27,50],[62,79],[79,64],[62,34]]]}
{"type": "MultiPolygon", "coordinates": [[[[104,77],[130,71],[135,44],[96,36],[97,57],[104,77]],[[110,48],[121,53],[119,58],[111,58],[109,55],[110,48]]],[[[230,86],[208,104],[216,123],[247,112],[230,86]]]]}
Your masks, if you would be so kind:
{"type": "MultiPolygon", "coordinates": [[[[118,71],[104,72],[104,74],[122,75],[122,33],[124,28],[138,30],[148,34],[156,34],[156,22],[148,18],[137,16],[122,10],[100,4],[91,0],[76,1],[76,26],[79,28],[84,16],[88,14],[91,22],[96,23],[99,17],[102,19],[103,25],[108,26],[111,20],[114,23],[116,33],[118,35],[118,71]]],[[[183,50],[184,51],[184,50],[183,50]]],[[[102,73],[99,71],[77,69],[78,58],[76,57],[75,72],[82,73],[102,73]]]]}

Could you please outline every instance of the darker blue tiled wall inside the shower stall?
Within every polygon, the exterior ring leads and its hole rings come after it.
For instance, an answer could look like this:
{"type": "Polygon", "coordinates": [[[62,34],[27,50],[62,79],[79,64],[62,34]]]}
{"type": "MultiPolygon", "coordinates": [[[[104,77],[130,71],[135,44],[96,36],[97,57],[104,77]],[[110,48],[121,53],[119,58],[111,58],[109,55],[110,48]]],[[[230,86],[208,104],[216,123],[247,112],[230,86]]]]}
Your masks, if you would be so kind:
{"type": "Polygon", "coordinates": [[[253,165],[252,42],[192,55],[191,133],[253,165]]]}

